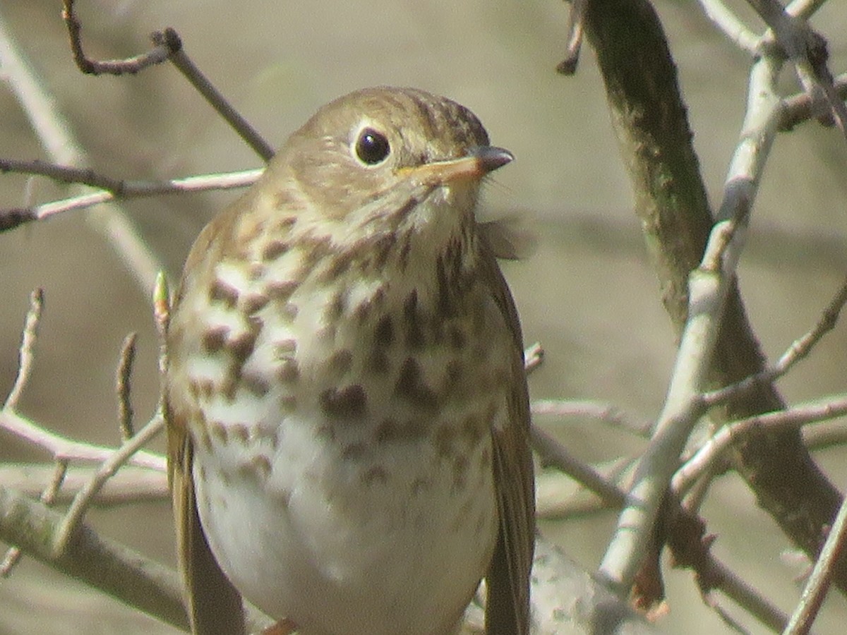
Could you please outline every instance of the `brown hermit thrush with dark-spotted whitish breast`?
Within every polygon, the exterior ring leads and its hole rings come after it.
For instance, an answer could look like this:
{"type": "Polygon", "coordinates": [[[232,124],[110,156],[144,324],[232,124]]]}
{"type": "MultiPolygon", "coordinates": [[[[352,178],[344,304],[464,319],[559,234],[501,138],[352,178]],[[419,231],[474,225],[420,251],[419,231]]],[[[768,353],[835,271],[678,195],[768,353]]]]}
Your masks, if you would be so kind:
{"type": "Polygon", "coordinates": [[[529,632],[521,333],[474,217],[511,160],[456,102],[357,91],[203,229],[165,381],[197,632],[243,631],[243,594],[302,633],[451,633],[482,577],[488,632],[529,632]]]}

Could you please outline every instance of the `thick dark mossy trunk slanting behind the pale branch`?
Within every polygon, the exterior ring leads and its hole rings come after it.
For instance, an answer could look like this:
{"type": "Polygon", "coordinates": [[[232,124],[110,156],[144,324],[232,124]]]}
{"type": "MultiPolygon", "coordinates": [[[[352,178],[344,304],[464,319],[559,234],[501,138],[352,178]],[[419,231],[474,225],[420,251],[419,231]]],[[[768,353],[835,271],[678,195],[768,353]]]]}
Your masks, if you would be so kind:
{"type": "MultiPolygon", "coordinates": [[[[635,211],[662,299],[681,332],[687,317],[688,275],[703,253],[712,217],[676,69],[662,26],[644,0],[590,3],[586,34],[606,82],[613,123],[633,182],[635,211]]],[[[712,360],[711,384],[734,383],[763,367],[764,357],[732,284],[712,360]]],[[[776,389],[765,384],[745,400],[730,403],[727,414],[744,418],[783,407],[776,389]]],[[[811,460],[800,433],[762,431],[734,458],[760,505],[814,557],[839,509],[839,494],[811,460]]],[[[837,580],[847,588],[844,566],[837,580]]]]}

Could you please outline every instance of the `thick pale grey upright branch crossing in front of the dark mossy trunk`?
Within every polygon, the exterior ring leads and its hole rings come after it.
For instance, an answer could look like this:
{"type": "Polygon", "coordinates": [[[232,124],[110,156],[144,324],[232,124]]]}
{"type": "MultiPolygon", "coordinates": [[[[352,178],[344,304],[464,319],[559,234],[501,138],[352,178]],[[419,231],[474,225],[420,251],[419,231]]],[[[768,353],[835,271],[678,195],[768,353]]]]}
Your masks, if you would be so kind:
{"type": "Polygon", "coordinates": [[[763,55],[750,72],[745,128],[730,163],[719,218],[711,231],[701,266],[689,277],[689,312],[665,406],[652,442],[639,461],[628,505],[601,563],[601,575],[627,593],[639,570],[659,505],[678,467],[678,457],[704,411],[700,392],[711,371],[723,306],[744,245],[743,229],[756,196],[761,170],[776,135],[779,100],[773,86],[780,62],[763,55]]]}

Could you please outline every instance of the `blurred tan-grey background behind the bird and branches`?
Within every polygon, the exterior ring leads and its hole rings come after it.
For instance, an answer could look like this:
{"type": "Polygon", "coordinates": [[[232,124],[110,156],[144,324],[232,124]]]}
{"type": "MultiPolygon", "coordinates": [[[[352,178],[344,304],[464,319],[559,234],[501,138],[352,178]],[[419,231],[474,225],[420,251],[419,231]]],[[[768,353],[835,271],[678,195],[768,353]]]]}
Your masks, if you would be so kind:
{"type": "MultiPolygon", "coordinates": [[[[750,60],[712,27],[694,2],[657,0],[689,106],[695,146],[717,207],[739,134],[750,60]]],[[[756,20],[749,11],[740,11],[756,20]]],[[[93,78],[76,69],[58,0],[3,0],[0,19],[89,153],[87,167],[127,179],[166,179],[255,168],[259,159],[169,65],[137,76],[93,78]]],[[[539,246],[504,270],[525,339],[540,341],[544,365],[535,398],[616,404],[651,420],[662,406],[674,341],[634,218],[605,96],[590,47],[575,77],[556,75],[569,6],[558,0],[78,0],[83,40],[94,58],[147,50],[148,34],[172,26],[219,90],[274,146],[324,102],[362,86],[418,86],[471,108],[492,141],[517,160],[485,191],[491,215],[519,213],[539,246]]],[[[847,69],[847,8],[831,2],[812,24],[830,41],[835,73],[847,69]]],[[[756,26],[756,30],[759,27],[756,26]]],[[[2,75],[3,69],[0,69],[2,75]]],[[[794,80],[787,73],[786,91],[794,80]]],[[[0,156],[45,157],[11,91],[0,84],[0,156]]],[[[772,358],[817,321],[847,271],[847,146],[833,130],[804,124],[773,148],[740,269],[750,320],[772,358]]],[[[0,175],[0,206],[67,195],[38,179],[0,175]]],[[[172,279],[202,225],[236,193],[126,202],[141,235],[172,279]]],[[[0,235],[0,395],[14,380],[19,331],[30,291],[47,304],[36,368],[21,411],[46,427],[101,444],[119,441],[113,394],[121,341],[139,334],[133,379],[138,425],[158,392],[150,301],[119,255],[67,213],[0,235]]],[[[789,402],[844,391],[847,327],[780,382],[789,402]]],[[[540,421],[576,455],[604,461],[639,443],[598,422],[540,421]]],[[[162,450],[159,439],[156,449],[162,450]]],[[[817,455],[833,482],[847,483],[847,453],[817,455]]],[[[0,461],[47,461],[0,433],[0,461]]],[[[802,566],[739,479],[722,478],[704,515],[713,550],[783,610],[799,597],[802,566]]],[[[545,522],[548,535],[589,570],[597,566],[616,515],[545,522]]],[[[104,535],[174,563],[166,502],[94,510],[104,535]]],[[[689,572],[668,572],[667,632],[728,632],[706,609],[689,572]]],[[[719,598],[750,632],[765,632],[719,598]]],[[[0,581],[3,633],[174,632],[152,619],[25,559],[0,581]]],[[[816,632],[843,632],[847,608],[832,594],[816,632]]]]}

